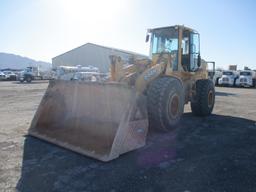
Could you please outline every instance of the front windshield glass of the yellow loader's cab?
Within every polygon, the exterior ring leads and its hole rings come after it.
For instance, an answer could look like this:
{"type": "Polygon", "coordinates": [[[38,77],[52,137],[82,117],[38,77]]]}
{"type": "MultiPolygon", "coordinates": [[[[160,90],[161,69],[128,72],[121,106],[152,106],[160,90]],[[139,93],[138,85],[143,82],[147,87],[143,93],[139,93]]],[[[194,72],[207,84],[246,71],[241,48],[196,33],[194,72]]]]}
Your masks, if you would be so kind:
{"type": "Polygon", "coordinates": [[[156,29],[152,33],[152,54],[178,52],[178,30],[156,29]]]}

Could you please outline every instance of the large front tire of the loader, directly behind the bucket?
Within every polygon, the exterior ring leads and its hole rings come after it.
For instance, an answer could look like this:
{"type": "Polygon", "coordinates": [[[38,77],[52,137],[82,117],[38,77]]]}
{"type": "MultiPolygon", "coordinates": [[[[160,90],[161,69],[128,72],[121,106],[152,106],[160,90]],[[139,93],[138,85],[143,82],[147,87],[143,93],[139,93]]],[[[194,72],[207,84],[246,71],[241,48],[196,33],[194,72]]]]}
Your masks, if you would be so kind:
{"type": "Polygon", "coordinates": [[[151,83],[147,91],[150,128],[170,131],[184,111],[184,89],[173,77],[161,77],[151,83]]]}

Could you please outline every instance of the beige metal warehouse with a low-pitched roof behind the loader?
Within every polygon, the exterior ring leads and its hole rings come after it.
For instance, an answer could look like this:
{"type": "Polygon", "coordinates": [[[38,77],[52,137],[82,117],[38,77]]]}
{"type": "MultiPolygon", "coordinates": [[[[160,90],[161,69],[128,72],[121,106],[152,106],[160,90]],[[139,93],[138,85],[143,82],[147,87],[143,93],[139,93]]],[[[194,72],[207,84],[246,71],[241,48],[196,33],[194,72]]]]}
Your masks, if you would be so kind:
{"type": "Polygon", "coordinates": [[[99,68],[101,72],[108,72],[110,67],[110,55],[118,55],[125,62],[128,62],[135,55],[138,59],[148,58],[146,55],[86,43],[80,47],[72,49],[66,53],[56,56],[52,59],[53,68],[58,66],[94,66],[99,68]]]}

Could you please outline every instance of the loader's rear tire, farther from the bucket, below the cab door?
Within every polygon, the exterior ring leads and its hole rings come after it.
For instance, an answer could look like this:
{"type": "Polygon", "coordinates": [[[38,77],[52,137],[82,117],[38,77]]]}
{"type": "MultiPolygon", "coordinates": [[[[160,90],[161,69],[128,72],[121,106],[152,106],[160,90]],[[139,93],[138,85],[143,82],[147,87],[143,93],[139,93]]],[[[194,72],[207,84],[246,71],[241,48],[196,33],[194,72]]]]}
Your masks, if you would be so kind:
{"type": "Polygon", "coordinates": [[[215,103],[215,89],[212,81],[208,79],[196,82],[196,95],[190,102],[194,115],[207,116],[212,113],[215,103]]]}

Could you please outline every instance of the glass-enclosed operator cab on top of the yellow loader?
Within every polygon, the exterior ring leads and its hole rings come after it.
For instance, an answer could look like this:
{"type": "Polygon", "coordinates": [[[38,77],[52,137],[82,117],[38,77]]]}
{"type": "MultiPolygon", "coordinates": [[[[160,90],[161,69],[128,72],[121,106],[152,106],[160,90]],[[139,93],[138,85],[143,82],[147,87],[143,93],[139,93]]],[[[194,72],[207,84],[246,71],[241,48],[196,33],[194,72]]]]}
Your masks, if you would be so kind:
{"type": "MultiPolygon", "coordinates": [[[[182,66],[187,72],[198,70],[201,65],[200,37],[195,30],[176,25],[149,29],[148,33],[151,33],[150,56],[152,58],[169,54],[172,58],[170,67],[173,71],[178,71],[178,66],[182,66]]],[[[149,35],[146,38],[146,41],[148,40],[149,35]]]]}

